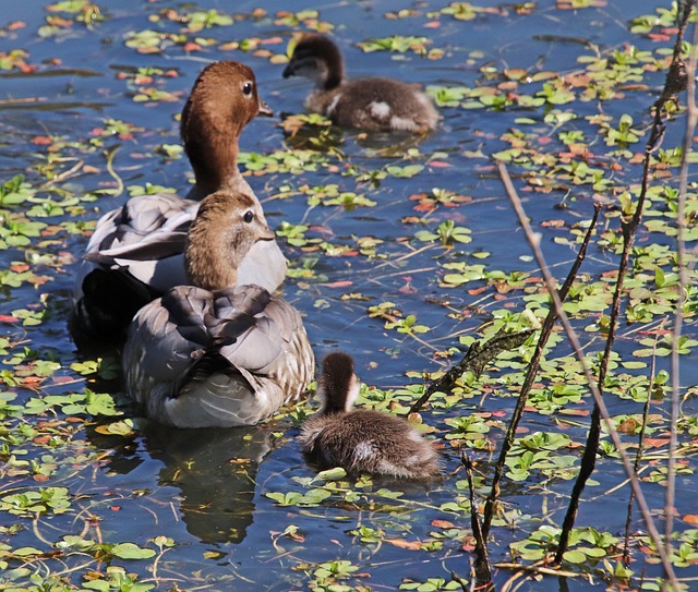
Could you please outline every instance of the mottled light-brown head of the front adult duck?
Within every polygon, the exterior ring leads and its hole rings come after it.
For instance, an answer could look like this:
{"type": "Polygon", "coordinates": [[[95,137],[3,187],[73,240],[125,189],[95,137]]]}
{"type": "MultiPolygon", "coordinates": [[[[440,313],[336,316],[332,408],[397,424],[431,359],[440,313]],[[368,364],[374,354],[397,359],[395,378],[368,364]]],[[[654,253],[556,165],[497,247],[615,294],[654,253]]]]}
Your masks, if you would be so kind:
{"type": "Polygon", "coordinates": [[[218,290],[234,286],[238,267],[257,241],[272,241],[258,202],[234,191],[217,191],[201,203],[184,249],[193,286],[218,290]]]}

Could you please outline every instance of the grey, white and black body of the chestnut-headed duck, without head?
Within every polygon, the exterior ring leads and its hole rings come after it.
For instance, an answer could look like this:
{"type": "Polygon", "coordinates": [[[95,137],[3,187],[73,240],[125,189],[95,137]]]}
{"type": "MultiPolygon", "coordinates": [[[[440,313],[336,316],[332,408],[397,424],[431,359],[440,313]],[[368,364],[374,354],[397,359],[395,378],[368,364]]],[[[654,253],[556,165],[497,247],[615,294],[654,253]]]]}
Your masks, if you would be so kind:
{"type": "MultiPolygon", "coordinates": [[[[73,326],[80,333],[123,339],[142,306],[188,283],[183,253],[198,205],[173,194],[144,195],[99,219],[73,291],[73,326]]],[[[276,241],[258,241],[243,258],[238,282],[274,291],[286,268],[276,241]]]]}

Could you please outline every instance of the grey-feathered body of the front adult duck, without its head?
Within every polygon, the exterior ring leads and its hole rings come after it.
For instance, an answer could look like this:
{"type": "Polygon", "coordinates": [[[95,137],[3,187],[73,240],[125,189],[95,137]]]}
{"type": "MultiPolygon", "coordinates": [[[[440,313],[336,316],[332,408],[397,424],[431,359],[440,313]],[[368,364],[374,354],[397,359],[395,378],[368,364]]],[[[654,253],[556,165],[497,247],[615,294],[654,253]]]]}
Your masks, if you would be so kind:
{"type": "Polygon", "coordinates": [[[250,425],[314,373],[298,311],[258,286],[178,287],[142,309],[123,353],[127,390],[179,427],[250,425]]]}

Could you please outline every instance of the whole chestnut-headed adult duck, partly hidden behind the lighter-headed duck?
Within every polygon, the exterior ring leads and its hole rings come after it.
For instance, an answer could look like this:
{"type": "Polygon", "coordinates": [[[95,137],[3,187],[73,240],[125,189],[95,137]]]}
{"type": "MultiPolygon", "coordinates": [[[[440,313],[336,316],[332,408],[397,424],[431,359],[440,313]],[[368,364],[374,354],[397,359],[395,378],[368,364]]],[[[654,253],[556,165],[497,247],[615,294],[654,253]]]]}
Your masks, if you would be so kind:
{"type": "MultiPolygon", "coordinates": [[[[79,334],[122,340],[133,315],[172,286],[185,283],[182,253],[198,201],[219,189],[258,200],[238,170],[239,136],[257,114],[272,114],[254,73],[220,61],[201,72],[182,111],[181,137],[194,170],[188,198],[174,194],[132,197],[104,215],[87,244],[73,294],[79,334]]],[[[257,214],[264,221],[264,214],[257,214]]],[[[276,290],[286,258],[276,241],[254,244],[240,263],[243,283],[276,290]]]]}

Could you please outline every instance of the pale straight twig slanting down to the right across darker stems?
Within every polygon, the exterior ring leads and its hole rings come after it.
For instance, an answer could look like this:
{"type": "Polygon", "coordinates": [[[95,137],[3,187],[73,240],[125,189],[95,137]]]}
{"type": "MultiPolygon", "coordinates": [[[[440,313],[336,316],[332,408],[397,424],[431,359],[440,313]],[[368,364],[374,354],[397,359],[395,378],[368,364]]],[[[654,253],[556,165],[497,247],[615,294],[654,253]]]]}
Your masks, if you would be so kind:
{"type": "Polygon", "coordinates": [[[613,445],[616,447],[616,449],[618,450],[618,454],[621,455],[623,467],[625,469],[626,474],[628,475],[628,479],[630,480],[630,486],[635,492],[635,496],[637,497],[638,506],[640,507],[642,518],[645,519],[647,531],[657,546],[657,552],[659,553],[662,565],[666,570],[667,578],[670,579],[674,589],[678,591],[678,582],[676,580],[676,575],[674,573],[674,568],[672,567],[671,560],[666,555],[664,545],[662,544],[661,534],[657,530],[657,525],[654,524],[654,520],[652,519],[652,514],[650,511],[649,506],[647,505],[645,495],[642,494],[640,483],[634,474],[630,459],[628,458],[628,455],[623,448],[623,443],[621,442],[621,438],[618,437],[618,433],[615,430],[615,426],[613,425],[613,421],[611,420],[609,410],[606,409],[606,406],[603,401],[601,391],[599,390],[597,382],[593,375],[591,374],[591,370],[587,364],[587,360],[585,359],[585,354],[582,352],[579,338],[577,337],[575,329],[569,323],[567,313],[563,309],[563,303],[559,300],[559,295],[557,293],[557,289],[555,286],[555,279],[552,277],[550,269],[547,268],[547,264],[545,263],[545,257],[543,256],[543,253],[540,247],[540,234],[535,234],[531,229],[531,226],[528,222],[528,217],[526,216],[526,212],[524,210],[524,206],[521,205],[521,201],[519,200],[519,196],[516,193],[516,190],[514,189],[514,184],[512,183],[512,179],[509,177],[509,173],[506,170],[505,165],[503,162],[498,162],[497,167],[500,169],[500,176],[502,177],[502,182],[504,183],[507,195],[512,201],[514,209],[516,210],[516,214],[519,218],[519,223],[521,225],[521,228],[524,229],[524,232],[526,234],[526,240],[528,241],[531,250],[533,251],[533,255],[535,256],[535,259],[541,269],[541,273],[543,274],[543,278],[545,280],[547,291],[551,298],[553,299],[553,305],[555,306],[555,309],[557,309],[557,314],[559,315],[559,322],[562,323],[565,329],[565,333],[567,334],[567,339],[569,340],[573,347],[573,350],[575,351],[575,355],[577,357],[577,360],[579,361],[579,364],[582,367],[582,371],[587,378],[587,384],[591,390],[591,394],[595,402],[594,409],[599,410],[600,415],[603,418],[603,420],[606,423],[606,430],[609,432],[609,435],[613,440],[613,445]]]}

